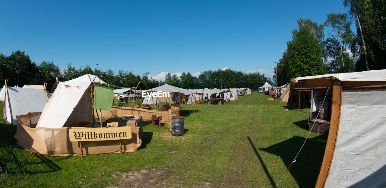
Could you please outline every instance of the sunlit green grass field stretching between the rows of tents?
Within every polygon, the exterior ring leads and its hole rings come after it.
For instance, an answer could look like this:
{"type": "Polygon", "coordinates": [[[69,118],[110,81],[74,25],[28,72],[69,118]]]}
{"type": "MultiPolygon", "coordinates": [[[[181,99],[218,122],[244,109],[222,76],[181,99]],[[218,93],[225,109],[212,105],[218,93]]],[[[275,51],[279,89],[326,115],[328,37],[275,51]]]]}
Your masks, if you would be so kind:
{"type": "MultiPolygon", "coordinates": [[[[135,152],[74,157],[37,156],[20,148],[16,128],[0,120],[0,184],[5,187],[274,187],[308,134],[310,109],[284,111],[252,93],[224,105],[182,105],[185,135],[143,127],[135,152]],[[6,173],[5,173],[6,172],[6,173]]],[[[0,106],[1,109],[2,106],[0,106]]],[[[2,114],[2,112],[1,112],[2,114]]],[[[315,186],[327,135],[311,133],[278,187],[315,186]]]]}

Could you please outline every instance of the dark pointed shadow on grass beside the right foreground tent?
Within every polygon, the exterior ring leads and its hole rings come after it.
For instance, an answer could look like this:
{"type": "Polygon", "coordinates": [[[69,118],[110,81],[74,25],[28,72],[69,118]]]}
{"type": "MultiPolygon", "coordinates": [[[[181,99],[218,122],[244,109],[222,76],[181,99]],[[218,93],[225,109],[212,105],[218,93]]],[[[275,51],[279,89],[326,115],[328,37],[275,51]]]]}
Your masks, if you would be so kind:
{"type": "MultiPolygon", "coordinates": [[[[267,148],[259,148],[279,156],[287,168],[298,153],[305,138],[293,136],[281,143],[274,144],[267,148]]],[[[317,181],[320,167],[322,166],[324,150],[326,148],[327,135],[319,135],[315,138],[307,139],[300,151],[296,162],[289,168],[289,173],[293,176],[300,188],[314,187],[317,181]]]]}

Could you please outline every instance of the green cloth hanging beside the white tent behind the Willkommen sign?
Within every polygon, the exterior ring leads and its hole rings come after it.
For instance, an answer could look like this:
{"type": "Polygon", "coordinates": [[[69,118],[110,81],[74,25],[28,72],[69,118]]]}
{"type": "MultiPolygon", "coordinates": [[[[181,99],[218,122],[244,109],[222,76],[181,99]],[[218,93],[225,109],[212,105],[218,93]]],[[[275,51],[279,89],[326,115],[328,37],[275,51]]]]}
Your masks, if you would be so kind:
{"type": "Polygon", "coordinates": [[[104,111],[111,111],[113,104],[114,85],[107,86],[106,84],[94,84],[94,108],[104,111]]]}

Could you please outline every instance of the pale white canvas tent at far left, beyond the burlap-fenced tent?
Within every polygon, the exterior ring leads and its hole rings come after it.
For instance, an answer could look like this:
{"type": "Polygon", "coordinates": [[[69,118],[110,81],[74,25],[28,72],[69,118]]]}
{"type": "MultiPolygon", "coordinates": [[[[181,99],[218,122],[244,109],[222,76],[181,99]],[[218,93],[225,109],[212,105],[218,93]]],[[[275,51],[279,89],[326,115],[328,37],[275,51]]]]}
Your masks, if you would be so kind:
{"type": "Polygon", "coordinates": [[[41,112],[47,102],[44,89],[7,87],[5,91],[3,118],[12,125],[17,124],[16,116],[28,112],[41,112]]]}

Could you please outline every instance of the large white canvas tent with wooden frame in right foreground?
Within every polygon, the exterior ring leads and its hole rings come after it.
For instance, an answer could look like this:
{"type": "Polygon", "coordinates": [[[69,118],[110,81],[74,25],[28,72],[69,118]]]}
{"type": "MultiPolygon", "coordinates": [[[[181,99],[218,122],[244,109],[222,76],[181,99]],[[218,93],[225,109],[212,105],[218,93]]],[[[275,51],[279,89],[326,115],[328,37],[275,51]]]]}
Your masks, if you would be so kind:
{"type": "Polygon", "coordinates": [[[386,70],[291,79],[290,93],[332,91],[327,146],[316,188],[385,187],[385,86],[386,70]]]}

